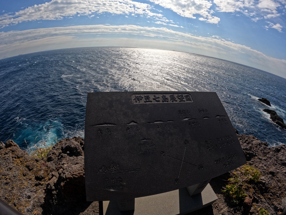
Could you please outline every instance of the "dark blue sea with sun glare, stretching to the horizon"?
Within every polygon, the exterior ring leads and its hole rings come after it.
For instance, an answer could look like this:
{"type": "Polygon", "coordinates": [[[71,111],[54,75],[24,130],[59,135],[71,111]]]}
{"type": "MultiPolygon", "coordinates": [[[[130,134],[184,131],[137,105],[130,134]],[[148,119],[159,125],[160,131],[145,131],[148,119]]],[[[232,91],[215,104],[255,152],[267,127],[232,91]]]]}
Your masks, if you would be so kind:
{"type": "Polygon", "coordinates": [[[71,48],[0,60],[0,141],[21,148],[84,136],[88,92],[215,91],[233,126],[270,146],[286,130],[264,113],[266,97],[286,120],[286,79],[225,60],[146,48],[71,48]]]}

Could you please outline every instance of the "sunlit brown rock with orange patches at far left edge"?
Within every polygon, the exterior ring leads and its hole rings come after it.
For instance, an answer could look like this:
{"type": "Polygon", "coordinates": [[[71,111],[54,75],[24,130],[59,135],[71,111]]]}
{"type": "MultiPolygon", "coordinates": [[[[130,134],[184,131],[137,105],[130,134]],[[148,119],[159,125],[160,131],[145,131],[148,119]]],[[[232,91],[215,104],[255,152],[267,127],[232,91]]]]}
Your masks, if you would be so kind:
{"type": "Polygon", "coordinates": [[[24,214],[41,214],[49,174],[43,163],[13,140],[0,142],[0,198],[24,214]]]}

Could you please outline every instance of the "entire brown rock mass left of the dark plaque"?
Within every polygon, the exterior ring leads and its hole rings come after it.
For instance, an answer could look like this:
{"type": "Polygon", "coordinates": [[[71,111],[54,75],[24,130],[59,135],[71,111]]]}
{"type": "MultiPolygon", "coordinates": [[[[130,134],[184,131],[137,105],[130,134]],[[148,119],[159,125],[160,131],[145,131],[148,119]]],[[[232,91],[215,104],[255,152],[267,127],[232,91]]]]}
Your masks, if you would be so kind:
{"type": "MultiPolygon", "coordinates": [[[[24,214],[70,214],[86,202],[84,139],[60,140],[47,159],[32,158],[8,140],[0,142],[0,198],[24,214]]],[[[80,210],[80,209],[78,209],[80,210]]],[[[83,209],[81,209],[83,210],[83,209]]]]}

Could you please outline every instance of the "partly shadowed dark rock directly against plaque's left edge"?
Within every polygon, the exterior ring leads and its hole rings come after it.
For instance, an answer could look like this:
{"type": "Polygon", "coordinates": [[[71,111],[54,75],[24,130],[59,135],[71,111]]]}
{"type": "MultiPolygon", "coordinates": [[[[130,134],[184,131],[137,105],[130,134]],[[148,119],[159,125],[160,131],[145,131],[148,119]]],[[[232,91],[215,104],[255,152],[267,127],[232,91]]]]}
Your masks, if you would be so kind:
{"type": "Polygon", "coordinates": [[[45,204],[52,214],[64,214],[66,208],[74,204],[71,202],[86,201],[84,152],[80,141],[60,140],[47,154],[52,171],[48,177],[45,204]]]}

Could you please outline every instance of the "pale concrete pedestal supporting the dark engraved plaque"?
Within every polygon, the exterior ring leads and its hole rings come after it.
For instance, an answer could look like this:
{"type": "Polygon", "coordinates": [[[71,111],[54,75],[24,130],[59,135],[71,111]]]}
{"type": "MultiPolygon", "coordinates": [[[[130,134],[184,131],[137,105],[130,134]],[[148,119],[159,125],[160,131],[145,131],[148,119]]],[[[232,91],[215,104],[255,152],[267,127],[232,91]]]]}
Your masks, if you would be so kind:
{"type": "Polygon", "coordinates": [[[117,201],[99,202],[100,215],[183,215],[211,205],[217,195],[208,184],[201,193],[190,196],[186,188],[135,198],[134,210],[119,211],[117,201]]]}

